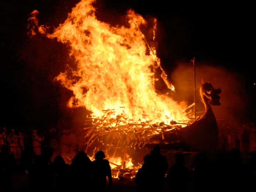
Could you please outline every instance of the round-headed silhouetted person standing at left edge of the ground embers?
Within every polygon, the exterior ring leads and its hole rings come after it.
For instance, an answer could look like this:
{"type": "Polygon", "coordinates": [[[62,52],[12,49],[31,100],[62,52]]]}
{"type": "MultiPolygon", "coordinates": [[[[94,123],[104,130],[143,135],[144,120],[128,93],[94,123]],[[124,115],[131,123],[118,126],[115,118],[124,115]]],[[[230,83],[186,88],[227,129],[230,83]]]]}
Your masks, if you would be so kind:
{"type": "Polygon", "coordinates": [[[95,154],[95,159],[92,161],[92,181],[95,191],[104,191],[106,189],[107,179],[109,179],[109,186],[112,186],[112,175],[109,161],[104,159],[103,151],[98,151],[95,154]]]}

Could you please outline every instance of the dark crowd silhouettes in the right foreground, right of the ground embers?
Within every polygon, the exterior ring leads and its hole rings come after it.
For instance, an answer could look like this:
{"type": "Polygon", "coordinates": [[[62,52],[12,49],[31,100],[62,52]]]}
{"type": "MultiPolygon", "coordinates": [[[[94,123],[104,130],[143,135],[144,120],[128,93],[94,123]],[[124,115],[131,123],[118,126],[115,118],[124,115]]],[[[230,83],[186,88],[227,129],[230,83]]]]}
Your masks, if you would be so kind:
{"type": "Polygon", "coordinates": [[[136,175],[138,191],[226,192],[254,188],[256,151],[248,153],[245,159],[235,148],[220,151],[214,157],[207,152],[176,152],[174,156],[176,162],[168,168],[166,157],[156,145],[151,154],[145,156],[136,175]]]}

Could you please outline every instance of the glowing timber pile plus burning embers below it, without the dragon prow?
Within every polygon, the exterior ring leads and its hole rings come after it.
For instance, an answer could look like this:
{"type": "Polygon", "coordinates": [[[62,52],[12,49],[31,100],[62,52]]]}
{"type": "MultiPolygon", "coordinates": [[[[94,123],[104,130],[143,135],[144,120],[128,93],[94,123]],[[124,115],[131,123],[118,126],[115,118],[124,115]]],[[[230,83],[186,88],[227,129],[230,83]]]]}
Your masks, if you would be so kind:
{"type": "Polygon", "coordinates": [[[124,113],[122,115],[115,114],[113,109],[104,110],[104,115],[100,118],[87,117],[85,128],[83,128],[87,140],[86,153],[93,154],[95,149],[104,149],[109,154],[114,177],[117,177],[118,174],[133,177],[140,168],[141,164],[137,162],[138,164],[134,165],[134,161],[128,155],[129,153],[126,153],[127,151],[143,149],[151,143],[158,142],[175,146],[180,141],[174,139],[166,141],[165,136],[168,138],[173,136],[173,138],[178,139],[177,130],[182,128],[181,124],[188,124],[176,121],[171,121],[171,125],[164,122],[153,124],[150,123],[150,120],[132,122],[125,117],[124,113]],[[120,155],[120,152],[123,154],[120,155]]]}

